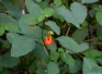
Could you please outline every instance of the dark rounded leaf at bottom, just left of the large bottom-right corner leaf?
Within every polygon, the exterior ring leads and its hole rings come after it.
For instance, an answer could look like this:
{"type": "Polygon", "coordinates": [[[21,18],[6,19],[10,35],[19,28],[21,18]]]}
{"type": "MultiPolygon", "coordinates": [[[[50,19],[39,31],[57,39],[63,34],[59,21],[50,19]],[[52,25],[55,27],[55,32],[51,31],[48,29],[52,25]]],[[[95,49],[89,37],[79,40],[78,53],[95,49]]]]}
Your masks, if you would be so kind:
{"type": "Polygon", "coordinates": [[[69,66],[70,73],[77,73],[81,70],[82,67],[82,63],[79,60],[75,60],[75,65],[73,66],[69,66]]]}

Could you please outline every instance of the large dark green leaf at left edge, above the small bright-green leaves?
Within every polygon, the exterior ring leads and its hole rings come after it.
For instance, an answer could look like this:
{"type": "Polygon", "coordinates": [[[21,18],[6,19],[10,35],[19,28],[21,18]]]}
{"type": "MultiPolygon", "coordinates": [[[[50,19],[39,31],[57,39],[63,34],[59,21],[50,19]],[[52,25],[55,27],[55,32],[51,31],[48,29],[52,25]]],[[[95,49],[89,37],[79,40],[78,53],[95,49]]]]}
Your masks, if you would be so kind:
{"type": "Polygon", "coordinates": [[[0,24],[2,23],[14,23],[14,24],[19,24],[18,21],[15,21],[13,17],[11,17],[10,15],[8,14],[4,14],[4,13],[0,13],[0,24]]]}

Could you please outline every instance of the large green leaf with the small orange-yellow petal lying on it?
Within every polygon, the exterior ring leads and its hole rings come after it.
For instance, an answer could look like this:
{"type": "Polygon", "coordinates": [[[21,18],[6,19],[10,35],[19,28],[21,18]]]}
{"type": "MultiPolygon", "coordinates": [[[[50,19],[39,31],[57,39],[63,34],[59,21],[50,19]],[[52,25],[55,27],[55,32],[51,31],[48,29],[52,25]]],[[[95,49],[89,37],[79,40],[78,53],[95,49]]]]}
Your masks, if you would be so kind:
{"type": "Polygon", "coordinates": [[[37,24],[35,14],[25,14],[21,16],[19,24],[20,24],[22,32],[25,35],[31,36],[31,37],[38,37],[38,38],[42,37],[42,29],[35,25],[37,24]],[[35,28],[29,28],[30,25],[35,25],[35,28]]]}

